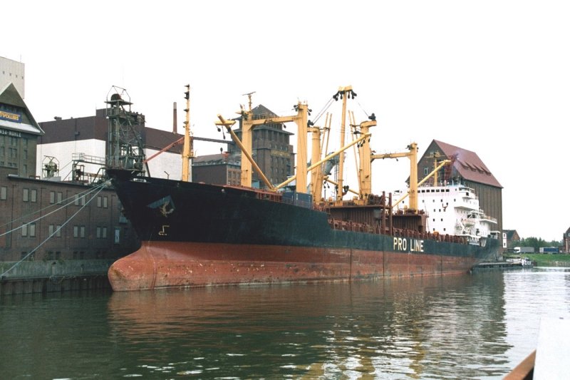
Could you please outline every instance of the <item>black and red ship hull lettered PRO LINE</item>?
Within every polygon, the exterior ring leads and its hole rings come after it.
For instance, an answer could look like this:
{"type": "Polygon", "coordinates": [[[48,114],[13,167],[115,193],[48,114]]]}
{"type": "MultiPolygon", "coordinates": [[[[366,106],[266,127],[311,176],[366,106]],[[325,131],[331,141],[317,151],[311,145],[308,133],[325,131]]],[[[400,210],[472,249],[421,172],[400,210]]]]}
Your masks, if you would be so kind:
{"type": "Polygon", "coordinates": [[[498,250],[340,227],[272,192],[108,174],[142,242],[110,268],[115,290],[460,274],[498,250]]]}

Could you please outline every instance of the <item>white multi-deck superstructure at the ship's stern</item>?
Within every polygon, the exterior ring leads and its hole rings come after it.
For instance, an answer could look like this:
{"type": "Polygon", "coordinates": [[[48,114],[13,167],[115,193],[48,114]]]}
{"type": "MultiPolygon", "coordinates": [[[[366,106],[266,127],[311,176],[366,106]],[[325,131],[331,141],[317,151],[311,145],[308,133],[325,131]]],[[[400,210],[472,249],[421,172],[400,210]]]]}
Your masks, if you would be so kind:
{"type": "Polygon", "coordinates": [[[479,245],[497,225],[480,209],[475,190],[461,184],[418,188],[418,208],[427,215],[427,231],[465,237],[470,244],[479,245]]]}

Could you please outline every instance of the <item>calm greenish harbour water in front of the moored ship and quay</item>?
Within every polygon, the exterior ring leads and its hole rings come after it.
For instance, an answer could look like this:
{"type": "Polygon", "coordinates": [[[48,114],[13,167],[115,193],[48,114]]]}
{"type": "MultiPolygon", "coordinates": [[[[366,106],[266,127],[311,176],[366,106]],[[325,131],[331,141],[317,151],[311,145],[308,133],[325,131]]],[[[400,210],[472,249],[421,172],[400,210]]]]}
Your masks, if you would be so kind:
{"type": "MultiPolygon", "coordinates": [[[[570,269],[566,269],[570,270],[570,269]]],[[[570,272],[0,299],[2,379],[501,379],[570,272]]]]}

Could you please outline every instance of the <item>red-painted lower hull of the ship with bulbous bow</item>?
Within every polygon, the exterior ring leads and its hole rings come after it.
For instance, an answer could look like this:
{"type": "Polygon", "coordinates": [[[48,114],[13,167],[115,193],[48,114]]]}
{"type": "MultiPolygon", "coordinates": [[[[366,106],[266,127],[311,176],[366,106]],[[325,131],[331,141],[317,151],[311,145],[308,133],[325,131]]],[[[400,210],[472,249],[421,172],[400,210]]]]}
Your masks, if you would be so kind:
{"type": "Polygon", "coordinates": [[[274,245],[142,242],[111,265],[115,291],[464,274],[470,257],[274,245]]]}

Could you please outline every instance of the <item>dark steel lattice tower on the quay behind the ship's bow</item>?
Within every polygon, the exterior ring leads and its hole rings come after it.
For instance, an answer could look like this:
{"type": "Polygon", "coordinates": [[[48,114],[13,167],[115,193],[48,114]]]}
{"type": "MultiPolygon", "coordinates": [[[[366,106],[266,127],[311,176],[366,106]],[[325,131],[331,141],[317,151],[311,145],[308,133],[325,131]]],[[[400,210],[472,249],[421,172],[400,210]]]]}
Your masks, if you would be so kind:
{"type": "Polygon", "coordinates": [[[144,115],[130,111],[133,103],[124,88],[113,86],[105,103],[109,119],[107,167],[148,173],[139,133],[144,128],[144,115]]]}

